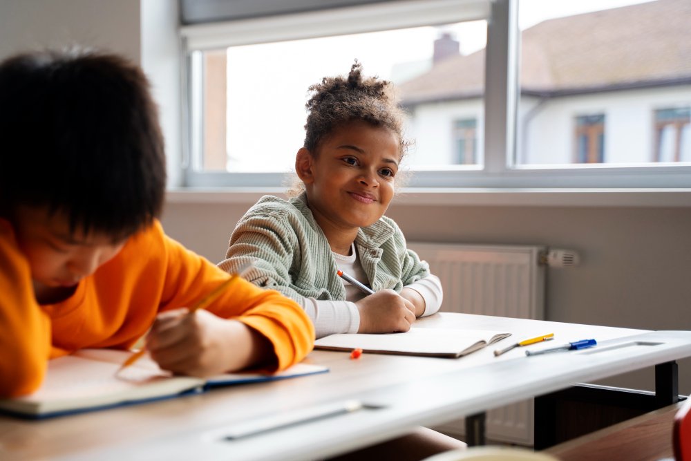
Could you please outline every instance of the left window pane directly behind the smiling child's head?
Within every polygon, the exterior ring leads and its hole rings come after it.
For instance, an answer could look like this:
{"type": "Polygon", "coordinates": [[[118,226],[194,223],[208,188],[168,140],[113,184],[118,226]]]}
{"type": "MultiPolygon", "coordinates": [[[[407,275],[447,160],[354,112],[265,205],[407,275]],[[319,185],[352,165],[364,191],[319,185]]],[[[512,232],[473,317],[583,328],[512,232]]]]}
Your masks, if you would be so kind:
{"type": "Polygon", "coordinates": [[[307,88],[347,74],[394,82],[413,140],[405,164],[423,169],[479,164],[482,151],[486,21],[233,46],[194,53],[203,75],[196,171],[270,172],[293,168],[302,147],[307,88]],[[458,64],[464,73],[455,72],[458,64]],[[463,133],[449,120],[473,120],[463,133]],[[221,131],[225,130],[225,133],[221,131]],[[464,153],[458,138],[464,136],[464,153]]]}

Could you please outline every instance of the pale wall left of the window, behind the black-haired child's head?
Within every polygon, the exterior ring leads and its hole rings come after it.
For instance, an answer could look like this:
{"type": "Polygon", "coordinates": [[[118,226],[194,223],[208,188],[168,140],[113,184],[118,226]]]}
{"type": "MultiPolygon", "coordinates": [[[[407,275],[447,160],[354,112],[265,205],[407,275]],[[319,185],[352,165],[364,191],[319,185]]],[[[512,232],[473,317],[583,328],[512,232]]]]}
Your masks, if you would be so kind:
{"type": "Polygon", "coordinates": [[[180,45],[176,0],[2,0],[0,59],[91,46],[144,68],[166,138],[169,185],[180,185],[180,45]]]}

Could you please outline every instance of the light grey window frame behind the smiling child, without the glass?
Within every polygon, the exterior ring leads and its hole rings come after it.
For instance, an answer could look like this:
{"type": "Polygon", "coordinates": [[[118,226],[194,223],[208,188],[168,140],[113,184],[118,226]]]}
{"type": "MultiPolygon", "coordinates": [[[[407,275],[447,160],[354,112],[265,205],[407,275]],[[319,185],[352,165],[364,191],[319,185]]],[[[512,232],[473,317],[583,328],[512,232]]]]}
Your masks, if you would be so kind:
{"type": "MultiPolygon", "coordinates": [[[[691,185],[691,164],[521,165],[516,164],[520,30],[518,0],[387,1],[296,15],[183,26],[182,48],[183,158],[185,187],[281,187],[286,173],[196,171],[200,117],[193,116],[191,84],[193,50],[258,44],[287,39],[370,32],[422,25],[488,19],[484,91],[484,158],[481,169],[446,166],[415,169],[411,190],[422,188],[637,188],[669,189],[691,185]],[[195,134],[196,133],[196,134],[195,134]]],[[[197,108],[198,109],[198,108],[197,108]]],[[[478,123],[480,120],[478,120],[478,123]]]]}

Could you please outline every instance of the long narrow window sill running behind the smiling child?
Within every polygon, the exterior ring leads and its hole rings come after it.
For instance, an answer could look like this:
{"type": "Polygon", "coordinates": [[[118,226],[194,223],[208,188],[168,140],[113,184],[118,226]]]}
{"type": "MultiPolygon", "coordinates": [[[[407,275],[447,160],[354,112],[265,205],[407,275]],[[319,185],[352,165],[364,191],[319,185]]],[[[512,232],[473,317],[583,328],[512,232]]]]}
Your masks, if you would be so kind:
{"type": "MultiPolygon", "coordinates": [[[[284,196],[282,187],[169,189],[168,203],[254,205],[263,195],[284,196]]],[[[394,205],[462,207],[691,207],[691,189],[403,189],[394,205]]]]}

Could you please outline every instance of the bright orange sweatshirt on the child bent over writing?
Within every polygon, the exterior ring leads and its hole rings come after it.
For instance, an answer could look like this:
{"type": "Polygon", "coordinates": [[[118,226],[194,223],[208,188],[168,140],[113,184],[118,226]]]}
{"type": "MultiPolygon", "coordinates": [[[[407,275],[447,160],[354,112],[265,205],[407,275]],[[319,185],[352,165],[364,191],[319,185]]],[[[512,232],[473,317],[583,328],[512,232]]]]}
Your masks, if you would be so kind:
{"type": "MultiPolygon", "coordinates": [[[[159,312],[193,305],[228,277],[156,222],[82,279],[70,298],[39,305],[29,263],[10,224],[0,220],[0,397],[35,391],[48,359],[82,348],[130,348],[159,312]]],[[[264,335],[278,369],[300,361],[314,346],[314,328],[299,305],[245,280],[207,310],[264,335]]]]}

